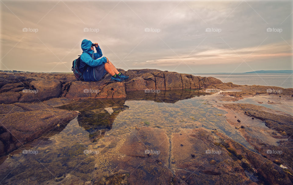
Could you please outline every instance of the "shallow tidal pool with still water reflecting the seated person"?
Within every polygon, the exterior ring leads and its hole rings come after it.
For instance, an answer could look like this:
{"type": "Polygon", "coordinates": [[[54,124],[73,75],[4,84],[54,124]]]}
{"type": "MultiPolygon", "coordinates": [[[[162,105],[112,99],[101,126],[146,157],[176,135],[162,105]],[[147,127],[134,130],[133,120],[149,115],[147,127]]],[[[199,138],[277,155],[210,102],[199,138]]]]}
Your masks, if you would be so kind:
{"type": "Polygon", "coordinates": [[[0,183],[60,184],[64,178],[91,183],[94,176],[115,169],[107,164],[103,153],[141,126],[162,129],[167,135],[204,127],[225,133],[254,151],[226,122],[226,112],[202,98],[208,95],[198,91],[135,92],[126,99],[90,99],[63,105],[61,109],[77,110],[80,115],[2,160],[0,183]],[[107,137],[113,142],[103,140],[107,137]]]}

